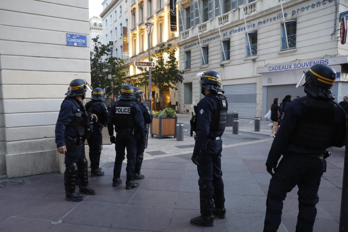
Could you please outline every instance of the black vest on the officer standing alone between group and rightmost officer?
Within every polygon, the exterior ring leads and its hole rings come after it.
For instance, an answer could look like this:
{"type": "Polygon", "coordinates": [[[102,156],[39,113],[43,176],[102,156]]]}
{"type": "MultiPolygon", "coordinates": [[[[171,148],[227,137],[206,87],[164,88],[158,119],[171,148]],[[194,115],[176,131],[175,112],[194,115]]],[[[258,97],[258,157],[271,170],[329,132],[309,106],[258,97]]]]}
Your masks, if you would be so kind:
{"type": "Polygon", "coordinates": [[[228,104],[222,94],[208,94],[206,97],[213,98],[217,103],[217,110],[213,112],[210,130],[224,130],[227,123],[228,104]]]}

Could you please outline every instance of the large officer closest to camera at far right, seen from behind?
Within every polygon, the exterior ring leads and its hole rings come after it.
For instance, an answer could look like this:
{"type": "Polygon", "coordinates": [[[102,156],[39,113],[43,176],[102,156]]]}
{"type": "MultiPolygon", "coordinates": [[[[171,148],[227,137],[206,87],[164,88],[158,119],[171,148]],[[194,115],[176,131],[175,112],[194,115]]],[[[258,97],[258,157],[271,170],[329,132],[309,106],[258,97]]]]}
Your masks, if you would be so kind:
{"type": "Polygon", "coordinates": [[[335,70],[316,64],[303,74],[306,97],[287,104],[279,128],[268,154],[266,167],[272,175],[267,201],[264,232],[278,230],[281,223],[283,201],[295,185],[299,191],[299,214],[296,232],[311,232],[319,201],[318,189],[326,171],[326,149],[341,147],[346,134],[346,114],[333,101],[331,87],[335,70]],[[283,155],[278,166],[278,160],[283,155]],[[273,173],[274,171],[274,173],[273,173]]]}

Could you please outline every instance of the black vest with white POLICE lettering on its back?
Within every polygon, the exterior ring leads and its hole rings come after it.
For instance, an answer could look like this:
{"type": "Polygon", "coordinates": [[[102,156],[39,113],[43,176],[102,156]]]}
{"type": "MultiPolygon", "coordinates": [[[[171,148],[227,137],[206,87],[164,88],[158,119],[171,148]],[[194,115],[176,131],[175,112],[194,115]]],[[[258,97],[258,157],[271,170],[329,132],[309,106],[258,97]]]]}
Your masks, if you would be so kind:
{"type": "Polygon", "coordinates": [[[117,101],[112,110],[113,115],[113,125],[116,128],[134,128],[134,101],[117,101]]]}

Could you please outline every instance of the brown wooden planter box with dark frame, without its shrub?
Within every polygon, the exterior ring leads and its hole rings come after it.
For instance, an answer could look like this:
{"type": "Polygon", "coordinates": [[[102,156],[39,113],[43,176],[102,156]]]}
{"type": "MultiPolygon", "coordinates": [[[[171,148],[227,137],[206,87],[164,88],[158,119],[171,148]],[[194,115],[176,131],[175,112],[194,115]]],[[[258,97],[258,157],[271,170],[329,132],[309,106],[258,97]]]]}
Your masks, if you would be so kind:
{"type": "Polygon", "coordinates": [[[162,136],[174,136],[174,138],[176,138],[176,122],[176,116],[172,118],[153,117],[151,123],[151,137],[157,135],[159,139],[161,139],[162,136]]]}

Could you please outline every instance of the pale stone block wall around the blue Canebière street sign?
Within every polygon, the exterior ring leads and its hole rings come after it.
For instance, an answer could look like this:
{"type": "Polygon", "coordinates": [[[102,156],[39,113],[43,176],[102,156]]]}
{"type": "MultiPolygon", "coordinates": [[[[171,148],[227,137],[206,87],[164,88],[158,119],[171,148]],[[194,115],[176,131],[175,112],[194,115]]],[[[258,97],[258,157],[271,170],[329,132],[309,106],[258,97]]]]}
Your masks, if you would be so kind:
{"type": "Polygon", "coordinates": [[[88,1],[0,0],[0,173],[58,171],[55,123],[72,79],[90,81],[88,1]],[[1,97],[0,97],[1,99],[1,97]],[[4,155],[5,154],[5,155],[4,155]]]}

